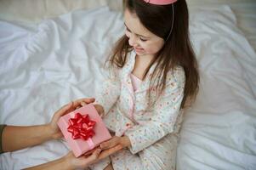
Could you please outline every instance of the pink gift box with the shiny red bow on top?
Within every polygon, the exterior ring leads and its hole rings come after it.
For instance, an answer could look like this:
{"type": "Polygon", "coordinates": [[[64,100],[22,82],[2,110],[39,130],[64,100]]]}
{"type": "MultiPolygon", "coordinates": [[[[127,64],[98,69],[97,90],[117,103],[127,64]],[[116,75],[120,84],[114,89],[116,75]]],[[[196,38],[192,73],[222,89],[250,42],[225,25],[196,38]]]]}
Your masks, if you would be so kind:
{"type": "Polygon", "coordinates": [[[76,157],[111,139],[111,134],[93,104],[61,116],[57,123],[76,157]]]}

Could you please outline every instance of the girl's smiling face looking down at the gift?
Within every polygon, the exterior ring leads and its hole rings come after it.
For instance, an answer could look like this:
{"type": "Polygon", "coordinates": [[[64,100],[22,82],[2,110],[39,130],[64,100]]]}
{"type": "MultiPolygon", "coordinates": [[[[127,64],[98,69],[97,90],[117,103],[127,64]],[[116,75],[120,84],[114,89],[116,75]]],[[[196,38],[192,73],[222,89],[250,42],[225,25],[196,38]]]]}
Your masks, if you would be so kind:
{"type": "Polygon", "coordinates": [[[148,31],[140,23],[138,16],[130,13],[128,9],[124,12],[124,25],[129,45],[134,48],[137,55],[154,55],[162,48],[164,40],[148,31]]]}

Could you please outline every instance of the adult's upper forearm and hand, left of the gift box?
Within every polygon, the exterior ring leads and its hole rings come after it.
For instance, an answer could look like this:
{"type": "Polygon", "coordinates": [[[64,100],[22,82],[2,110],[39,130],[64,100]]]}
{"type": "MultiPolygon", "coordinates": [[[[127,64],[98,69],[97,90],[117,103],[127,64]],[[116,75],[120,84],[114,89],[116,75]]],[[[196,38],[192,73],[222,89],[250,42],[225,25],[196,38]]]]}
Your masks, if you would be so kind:
{"type": "Polygon", "coordinates": [[[60,116],[74,111],[77,106],[80,106],[82,103],[92,102],[94,102],[94,99],[77,99],[69,105],[63,106],[59,111],[56,111],[52,121],[48,124],[27,127],[4,127],[2,133],[2,150],[5,152],[20,150],[36,144],[42,144],[49,139],[59,139],[62,137],[57,125],[60,116]]]}

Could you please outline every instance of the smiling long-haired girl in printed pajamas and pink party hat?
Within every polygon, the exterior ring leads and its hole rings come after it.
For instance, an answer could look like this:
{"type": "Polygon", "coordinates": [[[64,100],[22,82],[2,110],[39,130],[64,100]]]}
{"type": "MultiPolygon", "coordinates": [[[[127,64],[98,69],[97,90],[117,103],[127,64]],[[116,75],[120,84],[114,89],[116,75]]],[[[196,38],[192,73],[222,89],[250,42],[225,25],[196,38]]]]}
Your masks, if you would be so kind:
{"type": "Polygon", "coordinates": [[[111,164],[101,166],[175,169],[182,109],[195,99],[199,82],[187,5],[185,0],[124,3],[126,32],[112,52],[110,77],[96,98],[116,135],[101,149],[117,144],[123,149],[110,156],[111,164]]]}

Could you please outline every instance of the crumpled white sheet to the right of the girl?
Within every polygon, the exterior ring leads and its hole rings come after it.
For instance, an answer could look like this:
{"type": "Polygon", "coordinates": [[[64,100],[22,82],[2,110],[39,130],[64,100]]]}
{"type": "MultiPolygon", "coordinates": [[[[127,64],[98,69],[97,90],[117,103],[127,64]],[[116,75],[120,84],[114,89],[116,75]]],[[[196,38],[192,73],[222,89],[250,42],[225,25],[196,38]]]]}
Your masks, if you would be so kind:
{"type": "Polygon", "coordinates": [[[191,8],[201,84],[186,111],[178,169],[256,169],[256,54],[236,22],[228,6],[191,8]]]}

